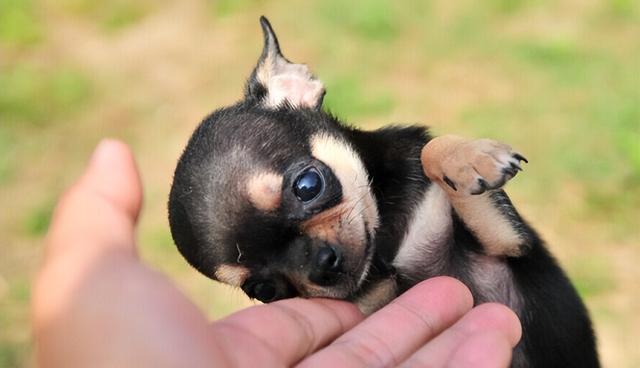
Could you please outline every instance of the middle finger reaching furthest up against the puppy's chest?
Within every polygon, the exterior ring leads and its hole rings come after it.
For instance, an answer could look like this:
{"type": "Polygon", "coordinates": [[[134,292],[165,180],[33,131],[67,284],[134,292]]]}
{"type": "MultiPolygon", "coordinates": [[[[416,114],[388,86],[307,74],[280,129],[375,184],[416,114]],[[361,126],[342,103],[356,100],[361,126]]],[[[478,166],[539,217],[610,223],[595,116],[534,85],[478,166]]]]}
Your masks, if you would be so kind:
{"type": "Polygon", "coordinates": [[[423,281],[302,365],[395,366],[472,305],[469,289],[458,280],[437,277],[423,281]]]}

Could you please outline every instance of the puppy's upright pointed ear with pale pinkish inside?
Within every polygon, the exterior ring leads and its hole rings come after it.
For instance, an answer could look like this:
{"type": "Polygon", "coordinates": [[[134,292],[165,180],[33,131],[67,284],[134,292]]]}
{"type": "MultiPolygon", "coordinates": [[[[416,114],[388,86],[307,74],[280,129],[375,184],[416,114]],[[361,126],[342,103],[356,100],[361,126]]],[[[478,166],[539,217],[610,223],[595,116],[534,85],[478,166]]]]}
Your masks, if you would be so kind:
{"type": "Polygon", "coordinates": [[[260,25],[264,49],[247,82],[245,97],[269,108],[287,104],[294,108],[319,109],[325,93],[322,82],[306,65],[291,63],[282,55],[267,18],[260,17],[260,25]]]}

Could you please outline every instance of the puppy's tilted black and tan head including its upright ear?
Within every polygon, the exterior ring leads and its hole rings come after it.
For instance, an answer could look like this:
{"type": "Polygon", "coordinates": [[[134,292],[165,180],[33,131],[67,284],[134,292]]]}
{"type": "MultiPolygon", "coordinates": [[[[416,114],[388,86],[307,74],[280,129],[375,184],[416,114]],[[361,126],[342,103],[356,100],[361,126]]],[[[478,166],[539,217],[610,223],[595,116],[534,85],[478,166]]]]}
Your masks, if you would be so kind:
{"type": "Polygon", "coordinates": [[[367,276],[378,211],[369,177],[324,87],[264,50],[245,97],[207,117],[178,162],[171,232],[196,269],[264,302],[347,298],[367,276]]]}

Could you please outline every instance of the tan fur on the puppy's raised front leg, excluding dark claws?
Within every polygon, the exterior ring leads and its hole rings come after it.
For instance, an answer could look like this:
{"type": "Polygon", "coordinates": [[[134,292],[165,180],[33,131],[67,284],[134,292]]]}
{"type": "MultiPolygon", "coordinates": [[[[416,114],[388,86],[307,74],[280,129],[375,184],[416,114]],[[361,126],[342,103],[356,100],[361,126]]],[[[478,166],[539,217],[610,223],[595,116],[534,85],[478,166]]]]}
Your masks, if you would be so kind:
{"type": "Polygon", "coordinates": [[[474,232],[489,255],[517,256],[523,239],[489,198],[471,195],[479,177],[489,184],[503,178],[500,165],[511,147],[489,139],[470,140],[453,135],[434,138],[422,150],[426,175],[449,196],[452,206],[474,232]],[[444,181],[447,176],[456,189],[444,181]]]}

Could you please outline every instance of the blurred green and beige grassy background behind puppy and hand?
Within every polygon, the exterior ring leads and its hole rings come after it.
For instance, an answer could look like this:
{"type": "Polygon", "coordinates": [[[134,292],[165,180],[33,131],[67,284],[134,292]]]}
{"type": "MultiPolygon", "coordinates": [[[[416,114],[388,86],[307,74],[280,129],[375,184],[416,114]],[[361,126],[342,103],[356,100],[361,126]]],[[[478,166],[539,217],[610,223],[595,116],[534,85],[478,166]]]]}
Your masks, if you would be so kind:
{"type": "Polygon", "coordinates": [[[166,200],[192,130],[240,98],[261,14],[345,120],[523,152],[508,192],[586,300],[605,366],[640,366],[639,2],[0,0],[0,367],[33,365],[42,238],[102,137],[139,160],[142,257],[212,318],[251,304],[177,253],[166,200]]]}

